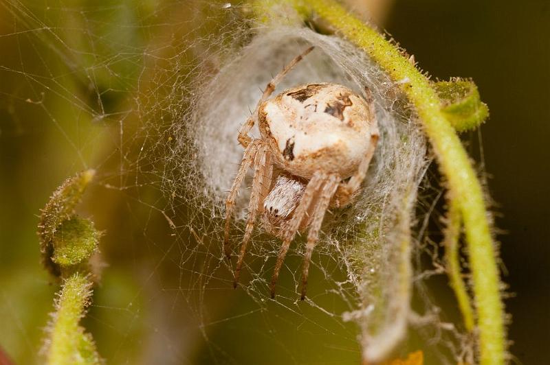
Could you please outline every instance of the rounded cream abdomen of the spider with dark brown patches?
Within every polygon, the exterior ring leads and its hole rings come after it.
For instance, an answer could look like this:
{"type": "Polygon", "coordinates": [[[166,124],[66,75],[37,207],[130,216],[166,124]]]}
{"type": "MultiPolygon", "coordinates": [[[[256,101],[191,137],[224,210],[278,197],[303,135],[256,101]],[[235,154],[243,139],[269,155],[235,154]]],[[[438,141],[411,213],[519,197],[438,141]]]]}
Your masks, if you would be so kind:
{"type": "Polygon", "coordinates": [[[327,83],[298,86],[267,100],[259,108],[259,128],[274,161],[303,178],[319,170],[351,176],[378,133],[371,103],[327,83]]]}

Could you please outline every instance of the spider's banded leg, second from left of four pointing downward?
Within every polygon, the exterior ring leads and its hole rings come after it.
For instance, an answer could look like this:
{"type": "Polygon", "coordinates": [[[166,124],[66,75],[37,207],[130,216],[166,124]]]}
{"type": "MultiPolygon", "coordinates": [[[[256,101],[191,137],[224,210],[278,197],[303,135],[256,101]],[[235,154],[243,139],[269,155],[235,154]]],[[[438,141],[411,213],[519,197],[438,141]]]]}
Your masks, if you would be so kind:
{"type": "Polygon", "coordinates": [[[250,242],[252,231],[254,231],[256,217],[259,213],[261,213],[263,209],[263,200],[269,191],[272,171],[273,165],[271,163],[271,156],[267,152],[267,145],[262,145],[254,158],[254,179],[252,180],[252,191],[250,193],[250,202],[248,204],[248,221],[246,222],[243,244],[241,244],[241,253],[239,254],[239,259],[237,260],[235,268],[233,281],[233,287],[235,288],[237,282],[239,281],[239,275],[241,274],[246,248],[248,246],[248,242],[250,242]]]}

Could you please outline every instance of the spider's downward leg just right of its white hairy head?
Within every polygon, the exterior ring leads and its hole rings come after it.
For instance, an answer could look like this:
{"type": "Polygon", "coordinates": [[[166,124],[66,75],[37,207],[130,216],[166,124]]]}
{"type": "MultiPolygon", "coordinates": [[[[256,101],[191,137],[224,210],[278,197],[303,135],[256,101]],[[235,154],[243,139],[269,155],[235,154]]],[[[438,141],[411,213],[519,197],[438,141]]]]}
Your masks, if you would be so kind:
{"type": "Polygon", "coordinates": [[[279,272],[281,271],[281,266],[283,266],[283,261],[285,261],[285,256],[287,255],[287,251],[290,246],[290,243],[294,239],[296,232],[298,232],[298,229],[300,228],[300,225],[302,224],[303,220],[306,218],[307,211],[309,210],[309,206],[311,205],[311,202],[314,201],[314,198],[317,195],[316,193],[318,192],[322,183],[324,183],[326,179],[327,179],[327,175],[323,174],[322,172],[316,172],[314,176],[311,177],[311,180],[309,180],[309,183],[307,183],[307,187],[305,188],[304,195],[302,196],[302,200],[300,200],[300,204],[296,208],[296,211],[294,211],[294,215],[289,221],[289,224],[287,226],[288,227],[287,231],[283,233],[283,245],[279,250],[279,255],[277,257],[277,262],[275,264],[275,268],[273,270],[273,276],[271,279],[271,297],[272,298],[275,298],[275,285],[277,283],[279,272]]]}

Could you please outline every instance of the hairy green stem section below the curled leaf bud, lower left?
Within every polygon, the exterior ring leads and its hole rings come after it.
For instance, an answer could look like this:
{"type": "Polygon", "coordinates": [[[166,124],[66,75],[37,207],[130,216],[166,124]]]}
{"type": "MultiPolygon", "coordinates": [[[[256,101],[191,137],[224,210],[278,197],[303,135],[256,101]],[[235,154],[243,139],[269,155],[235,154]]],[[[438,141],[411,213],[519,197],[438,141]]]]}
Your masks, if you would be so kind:
{"type": "Polygon", "coordinates": [[[100,364],[91,336],[78,324],[89,305],[91,285],[88,277],[78,272],[63,282],[50,327],[48,364],[100,364]]]}

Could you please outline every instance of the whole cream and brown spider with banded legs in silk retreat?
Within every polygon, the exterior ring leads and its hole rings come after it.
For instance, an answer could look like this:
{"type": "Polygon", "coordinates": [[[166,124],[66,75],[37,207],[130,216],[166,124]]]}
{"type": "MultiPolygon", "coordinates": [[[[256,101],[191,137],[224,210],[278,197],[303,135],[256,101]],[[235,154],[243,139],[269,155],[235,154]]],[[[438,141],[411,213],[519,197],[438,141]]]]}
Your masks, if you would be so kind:
{"type": "Polygon", "coordinates": [[[239,129],[244,154],[225,202],[224,251],[230,259],[230,220],[248,169],[254,169],[248,217],[234,272],[239,281],[256,218],[282,239],[270,291],[296,233],[309,228],[303,262],[302,293],[307,290],[309,261],[325,212],[350,204],[366,176],[379,138],[369,89],[366,99],[345,86],[305,84],[267,99],[285,75],[314,47],[309,47],[278,73],[263,91],[252,115],[239,129]],[[258,123],[261,137],[249,132],[258,123]]]}

